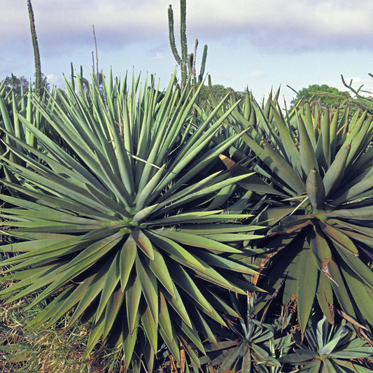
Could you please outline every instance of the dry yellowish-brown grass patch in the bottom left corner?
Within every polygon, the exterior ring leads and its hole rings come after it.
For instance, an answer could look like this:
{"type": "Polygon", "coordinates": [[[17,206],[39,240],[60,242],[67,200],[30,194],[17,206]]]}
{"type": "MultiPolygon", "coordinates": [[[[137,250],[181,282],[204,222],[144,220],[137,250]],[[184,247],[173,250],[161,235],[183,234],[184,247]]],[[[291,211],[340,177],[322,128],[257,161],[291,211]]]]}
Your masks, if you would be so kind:
{"type": "Polygon", "coordinates": [[[64,321],[48,329],[38,328],[24,334],[27,317],[13,304],[0,306],[1,373],[122,373],[120,351],[99,344],[88,358],[85,346],[90,324],[67,328],[64,321]]]}

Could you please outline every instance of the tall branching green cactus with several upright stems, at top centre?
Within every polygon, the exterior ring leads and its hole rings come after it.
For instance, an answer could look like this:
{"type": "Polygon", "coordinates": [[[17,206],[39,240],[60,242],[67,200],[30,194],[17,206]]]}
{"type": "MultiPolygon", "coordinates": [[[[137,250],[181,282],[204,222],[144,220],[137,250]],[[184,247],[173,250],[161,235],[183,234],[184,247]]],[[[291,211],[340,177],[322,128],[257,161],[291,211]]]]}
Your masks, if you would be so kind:
{"type": "Polygon", "coordinates": [[[175,43],[175,31],[174,31],[174,10],[172,6],[169,6],[169,42],[171,45],[172,53],[176,59],[176,62],[181,67],[181,90],[185,89],[186,82],[188,80],[188,74],[192,75],[193,90],[197,90],[197,84],[202,82],[204,76],[204,69],[206,66],[207,57],[207,45],[204,45],[204,52],[202,55],[202,65],[200,73],[198,75],[198,83],[195,71],[195,60],[197,55],[198,40],[195,41],[195,52],[188,55],[188,45],[186,37],[186,0],[180,0],[180,39],[181,39],[181,55],[178,53],[175,43]]]}

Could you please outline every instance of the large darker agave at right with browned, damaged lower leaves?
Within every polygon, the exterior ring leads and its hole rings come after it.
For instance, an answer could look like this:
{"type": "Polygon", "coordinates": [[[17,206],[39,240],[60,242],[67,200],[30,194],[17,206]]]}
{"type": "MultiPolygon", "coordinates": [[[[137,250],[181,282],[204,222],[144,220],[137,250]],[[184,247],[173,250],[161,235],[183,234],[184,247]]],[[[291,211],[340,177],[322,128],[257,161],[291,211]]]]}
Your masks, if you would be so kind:
{"type": "Polygon", "coordinates": [[[258,283],[269,294],[262,295],[257,311],[272,295],[283,294],[283,304],[297,304],[302,332],[316,304],[330,323],[337,309],[357,327],[369,328],[372,118],[367,112],[349,118],[338,108],[312,110],[309,103],[292,119],[275,102],[270,115],[255,101],[252,109],[251,117],[233,111],[230,122],[237,131],[247,130],[242,139],[257,160],[223,160],[232,176],[256,171],[241,185],[269,196],[261,220],[271,228],[262,245],[272,251],[258,257],[258,264],[267,267],[258,283]]]}

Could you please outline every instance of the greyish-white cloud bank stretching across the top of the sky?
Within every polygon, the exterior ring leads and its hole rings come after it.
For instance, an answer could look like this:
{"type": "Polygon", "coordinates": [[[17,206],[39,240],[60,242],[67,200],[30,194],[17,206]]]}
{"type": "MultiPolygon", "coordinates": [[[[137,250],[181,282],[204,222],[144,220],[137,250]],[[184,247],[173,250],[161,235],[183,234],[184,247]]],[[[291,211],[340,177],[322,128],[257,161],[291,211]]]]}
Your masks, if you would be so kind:
{"type": "MultiPolygon", "coordinates": [[[[44,51],[59,53],[72,44],[92,44],[92,24],[102,49],[163,40],[169,3],[178,37],[178,0],[34,0],[38,40],[44,51]]],[[[26,1],[6,1],[1,13],[0,48],[30,48],[26,1]]],[[[373,48],[372,16],[371,0],[188,0],[187,31],[191,40],[230,36],[279,52],[373,48]]]]}

